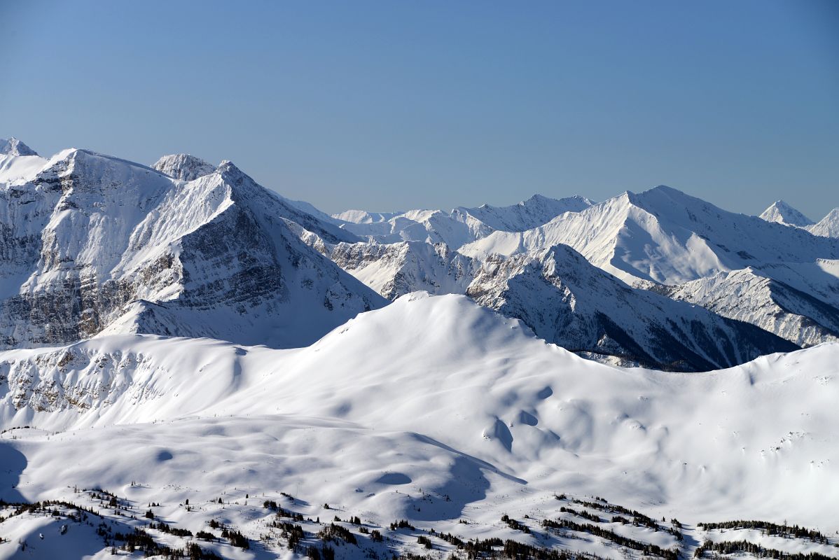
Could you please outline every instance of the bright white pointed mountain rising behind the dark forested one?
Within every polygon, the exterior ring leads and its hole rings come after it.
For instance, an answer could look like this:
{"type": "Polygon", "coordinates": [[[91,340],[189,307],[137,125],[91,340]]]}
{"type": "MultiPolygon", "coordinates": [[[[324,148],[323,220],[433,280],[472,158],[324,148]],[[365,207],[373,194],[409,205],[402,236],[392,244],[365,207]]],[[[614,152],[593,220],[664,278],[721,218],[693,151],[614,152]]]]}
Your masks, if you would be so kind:
{"type": "Polygon", "coordinates": [[[755,264],[839,258],[834,240],[727,212],[664,186],[627,192],[529,231],[497,231],[459,251],[483,259],[559,243],[628,283],[678,284],[755,264]]]}

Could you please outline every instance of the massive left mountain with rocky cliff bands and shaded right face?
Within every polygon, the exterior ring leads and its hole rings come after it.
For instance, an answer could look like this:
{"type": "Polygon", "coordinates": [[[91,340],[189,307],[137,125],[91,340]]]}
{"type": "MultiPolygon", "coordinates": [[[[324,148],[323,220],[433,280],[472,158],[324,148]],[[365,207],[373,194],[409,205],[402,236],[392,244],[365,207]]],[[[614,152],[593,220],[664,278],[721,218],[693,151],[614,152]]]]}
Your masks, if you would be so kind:
{"type": "MultiPolygon", "coordinates": [[[[194,163],[167,171],[195,176],[194,163]]],[[[138,332],[296,346],[384,303],[284,220],[348,236],[229,162],[185,181],[60,153],[34,176],[0,184],[0,345],[138,332]]]]}

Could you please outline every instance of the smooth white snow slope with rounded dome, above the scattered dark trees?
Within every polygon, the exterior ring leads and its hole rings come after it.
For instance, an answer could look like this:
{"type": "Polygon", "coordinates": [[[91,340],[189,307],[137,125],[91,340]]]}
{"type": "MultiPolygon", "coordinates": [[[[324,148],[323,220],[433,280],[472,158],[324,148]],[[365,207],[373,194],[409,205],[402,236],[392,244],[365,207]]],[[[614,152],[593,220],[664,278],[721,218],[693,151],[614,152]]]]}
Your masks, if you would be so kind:
{"type": "Polygon", "coordinates": [[[703,374],[622,369],[467,298],[422,294],[300,350],[153,336],[9,350],[2,425],[45,432],[3,442],[0,497],[124,495],[134,480],[138,503],[173,509],[190,492],[282,490],[307,516],[326,502],[436,526],[539,515],[571,492],[681,521],[832,532],[837,358],[826,344],[703,374]]]}

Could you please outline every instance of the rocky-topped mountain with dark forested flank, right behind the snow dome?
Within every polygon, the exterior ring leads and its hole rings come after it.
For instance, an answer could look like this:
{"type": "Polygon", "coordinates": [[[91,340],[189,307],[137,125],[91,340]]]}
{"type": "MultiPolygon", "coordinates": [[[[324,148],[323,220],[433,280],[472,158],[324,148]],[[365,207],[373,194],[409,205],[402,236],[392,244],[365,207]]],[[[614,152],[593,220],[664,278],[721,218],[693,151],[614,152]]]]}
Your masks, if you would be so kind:
{"type": "Polygon", "coordinates": [[[539,257],[489,257],[466,293],[548,342],[618,363],[706,371],[797,348],[751,324],[630,288],[565,245],[539,257]]]}

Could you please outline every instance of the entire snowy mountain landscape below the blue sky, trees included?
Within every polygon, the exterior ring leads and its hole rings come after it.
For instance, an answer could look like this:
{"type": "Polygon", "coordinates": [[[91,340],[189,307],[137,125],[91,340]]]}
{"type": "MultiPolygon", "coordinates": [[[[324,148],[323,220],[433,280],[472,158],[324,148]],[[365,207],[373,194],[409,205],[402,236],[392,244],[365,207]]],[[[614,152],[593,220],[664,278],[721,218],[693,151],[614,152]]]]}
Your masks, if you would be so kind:
{"type": "Polygon", "coordinates": [[[839,209],[0,140],[0,558],[839,558],[837,402],[839,209]]]}

